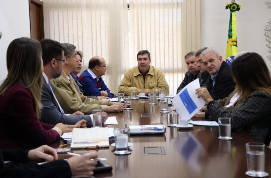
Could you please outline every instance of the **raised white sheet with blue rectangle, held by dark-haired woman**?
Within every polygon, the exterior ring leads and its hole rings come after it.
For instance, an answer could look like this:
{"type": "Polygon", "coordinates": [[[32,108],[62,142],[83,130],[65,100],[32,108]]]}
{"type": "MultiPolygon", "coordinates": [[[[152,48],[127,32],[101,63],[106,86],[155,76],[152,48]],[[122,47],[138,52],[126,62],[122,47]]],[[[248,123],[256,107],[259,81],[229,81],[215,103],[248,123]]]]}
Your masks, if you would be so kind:
{"type": "Polygon", "coordinates": [[[186,85],[173,99],[172,102],[181,119],[192,118],[205,104],[198,98],[195,89],[200,87],[198,78],[186,85]]]}

